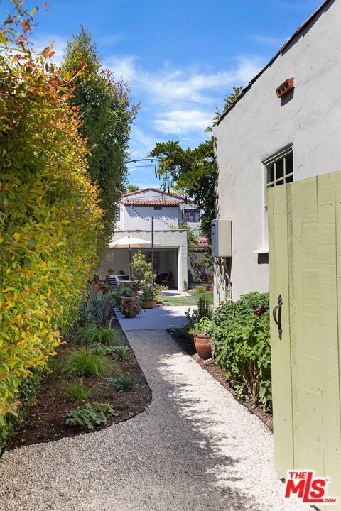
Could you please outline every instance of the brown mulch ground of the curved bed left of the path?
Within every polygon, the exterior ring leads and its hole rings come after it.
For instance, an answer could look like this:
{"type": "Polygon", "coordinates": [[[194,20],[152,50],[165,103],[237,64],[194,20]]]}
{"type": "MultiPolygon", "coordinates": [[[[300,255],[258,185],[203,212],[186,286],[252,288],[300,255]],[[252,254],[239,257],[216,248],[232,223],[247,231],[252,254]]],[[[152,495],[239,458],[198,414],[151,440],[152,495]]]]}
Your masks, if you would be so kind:
{"type": "MultiPolygon", "coordinates": [[[[119,323],[114,321],[114,328],[120,329],[119,323]]],[[[122,333],[122,332],[121,332],[122,333]]],[[[122,333],[126,341],[126,336],[122,333]]],[[[128,344],[128,341],[126,341],[128,344]]],[[[58,357],[64,356],[70,347],[60,349],[58,357]]],[[[105,378],[83,378],[85,386],[95,386],[95,392],[88,402],[110,403],[118,412],[118,417],[112,417],[107,424],[94,429],[71,427],[65,424],[67,412],[77,406],[77,402],[67,396],[65,385],[60,380],[48,376],[40,386],[36,404],[32,405],[25,419],[18,424],[9,440],[6,449],[37,444],[45,441],[58,440],[65,436],[75,436],[86,432],[94,432],[111,424],[124,421],[138,414],[151,402],[151,390],[148,387],[144,373],[142,373],[132,350],[124,362],[118,362],[114,356],[109,356],[117,364],[122,373],[133,374],[136,385],[131,392],[117,392],[105,378]]],[[[79,405],[84,403],[80,402],[79,405]]]]}

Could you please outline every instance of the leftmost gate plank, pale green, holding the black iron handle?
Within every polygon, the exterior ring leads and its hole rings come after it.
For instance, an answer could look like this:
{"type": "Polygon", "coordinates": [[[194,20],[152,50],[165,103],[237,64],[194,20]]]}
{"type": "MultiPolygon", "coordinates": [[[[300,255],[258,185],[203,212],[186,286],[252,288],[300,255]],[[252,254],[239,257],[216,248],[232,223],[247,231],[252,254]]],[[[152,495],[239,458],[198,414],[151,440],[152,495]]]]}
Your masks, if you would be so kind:
{"type": "Polygon", "coordinates": [[[271,374],[274,402],[274,461],[276,471],[286,477],[293,468],[293,423],[291,397],[291,351],[288,329],[288,236],[286,188],[270,189],[267,197],[269,217],[270,307],[282,295],[283,337],[271,318],[271,374]],[[276,192],[276,193],[275,193],[276,192]]]}

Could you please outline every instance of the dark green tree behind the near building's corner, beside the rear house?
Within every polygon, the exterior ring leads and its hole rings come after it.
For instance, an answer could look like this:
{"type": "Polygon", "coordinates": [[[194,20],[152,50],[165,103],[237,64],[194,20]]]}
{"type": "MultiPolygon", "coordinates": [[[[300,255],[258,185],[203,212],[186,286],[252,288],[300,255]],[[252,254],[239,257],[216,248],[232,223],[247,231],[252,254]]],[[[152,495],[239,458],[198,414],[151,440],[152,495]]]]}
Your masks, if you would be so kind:
{"type": "MultiPolygon", "coordinates": [[[[242,87],[234,87],[232,94],[224,99],[226,110],[237,98],[242,87]]],[[[215,119],[220,112],[216,110],[215,119]]],[[[212,132],[212,128],[206,129],[212,132]]],[[[158,142],[150,155],[160,159],[158,175],[163,188],[187,195],[202,209],[201,230],[207,238],[211,236],[211,220],[216,216],[217,162],[215,160],[215,138],[210,136],[195,149],[183,149],[178,141],[158,142]]]]}

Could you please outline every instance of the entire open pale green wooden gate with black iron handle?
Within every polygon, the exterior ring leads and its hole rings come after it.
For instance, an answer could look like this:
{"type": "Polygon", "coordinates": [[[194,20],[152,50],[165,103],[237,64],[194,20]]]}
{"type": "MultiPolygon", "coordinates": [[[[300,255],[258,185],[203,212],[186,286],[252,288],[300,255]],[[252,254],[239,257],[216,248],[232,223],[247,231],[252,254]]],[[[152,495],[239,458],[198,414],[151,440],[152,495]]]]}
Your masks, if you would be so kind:
{"type": "Polygon", "coordinates": [[[331,478],[341,510],[341,170],[269,190],[276,471],[331,478]],[[277,316],[280,312],[277,309],[277,316]]]}

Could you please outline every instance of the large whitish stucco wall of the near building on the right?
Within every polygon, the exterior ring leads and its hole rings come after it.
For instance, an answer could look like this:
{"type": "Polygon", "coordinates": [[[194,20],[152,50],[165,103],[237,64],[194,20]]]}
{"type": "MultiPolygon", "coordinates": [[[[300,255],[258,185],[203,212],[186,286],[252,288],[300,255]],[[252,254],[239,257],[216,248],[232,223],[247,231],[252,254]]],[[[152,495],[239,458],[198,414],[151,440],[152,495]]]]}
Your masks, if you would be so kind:
{"type": "MultiPolygon", "coordinates": [[[[341,167],[341,2],[298,34],[215,128],[218,211],[232,219],[232,298],[269,289],[264,248],[264,165],[293,145],[294,180],[341,167]],[[294,77],[293,95],[276,87],[294,77]]],[[[219,275],[216,275],[217,280],[219,275]]],[[[224,299],[215,285],[215,302],[224,299]]]]}

